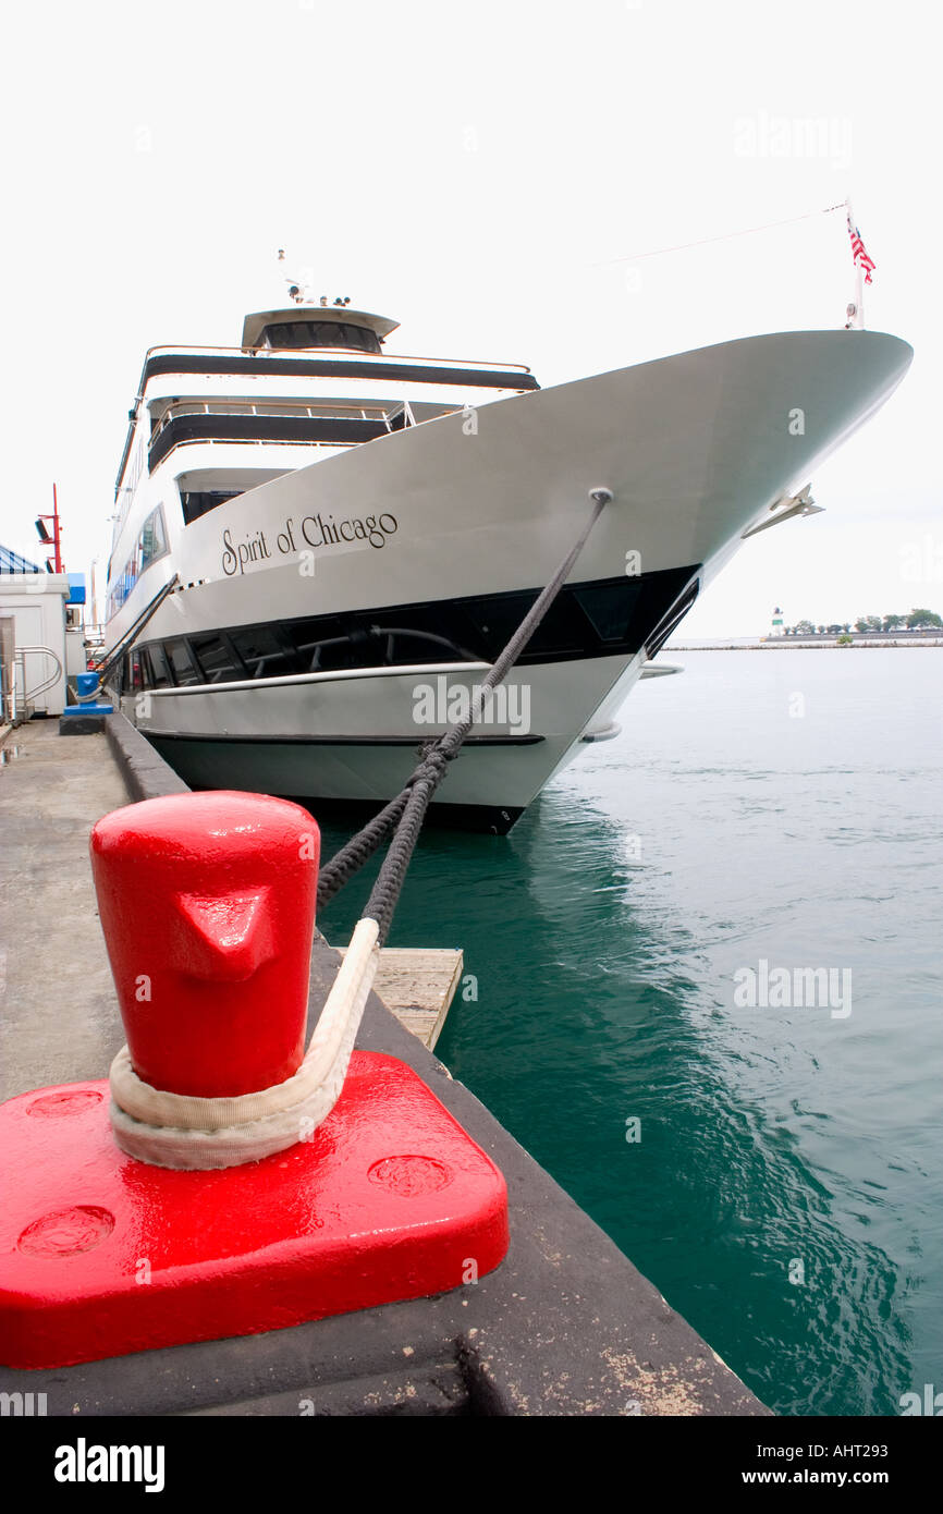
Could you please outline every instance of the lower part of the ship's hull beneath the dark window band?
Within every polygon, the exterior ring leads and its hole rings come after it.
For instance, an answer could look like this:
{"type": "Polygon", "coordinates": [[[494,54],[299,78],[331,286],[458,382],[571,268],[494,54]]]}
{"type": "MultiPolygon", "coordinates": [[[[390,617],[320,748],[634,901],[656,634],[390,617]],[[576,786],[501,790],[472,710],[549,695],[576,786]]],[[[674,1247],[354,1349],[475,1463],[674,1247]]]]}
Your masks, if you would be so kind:
{"type": "MultiPolygon", "coordinates": [[[[621,683],[628,693],[642,656],[542,665],[510,675],[512,712],[527,719],[477,725],[450,768],[437,795],[437,819],[475,830],[504,833],[537,796],[548,778],[578,749],[586,712],[598,709],[621,683]],[[524,696],[522,693],[524,686],[524,696]],[[574,736],[574,731],[577,733],[574,736]]],[[[227,687],[223,699],[209,693],[171,699],[168,724],[177,734],[160,739],[159,751],[192,787],[248,789],[375,810],[392,798],[416,765],[416,748],[445,728],[450,701],[480,683],[486,665],[448,663],[434,668],[383,669],[362,678],[327,675],[288,686],[227,687]],[[416,690],[428,689],[437,724],[416,724],[416,690]],[[218,722],[218,724],[216,724],[218,722]],[[219,727],[224,727],[223,730],[219,727]]],[[[419,695],[422,698],[422,695],[419,695]]],[[[599,736],[615,727],[598,727],[599,736]]],[[[596,739],[596,737],[589,737],[596,739]]]]}

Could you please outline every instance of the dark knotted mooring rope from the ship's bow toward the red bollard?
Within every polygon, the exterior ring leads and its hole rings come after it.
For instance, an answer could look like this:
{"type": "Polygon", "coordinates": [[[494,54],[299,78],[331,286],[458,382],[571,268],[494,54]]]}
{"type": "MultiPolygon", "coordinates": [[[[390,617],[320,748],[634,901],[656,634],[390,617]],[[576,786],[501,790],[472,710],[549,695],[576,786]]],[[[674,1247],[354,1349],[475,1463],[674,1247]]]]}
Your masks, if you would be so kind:
{"type": "Polygon", "coordinates": [[[563,587],[571,568],[586,545],[589,533],[612,500],[612,492],[608,489],[592,489],[589,497],[593,503],[589,521],[580,531],[574,547],[557,568],[554,577],[534,600],[504,651],[496,657],[487,671],[480,686],[474,709],[463,721],[456,721],[447,731],[443,731],[442,736],[419,748],[421,762],[407,778],[404,789],[395,799],[391,799],[378,815],[368,821],[368,824],[357,831],[357,834],[353,836],[321,869],[321,878],[318,881],[319,908],[325,905],[328,899],[333,899],[338,890],[342,889],[350,878],[353,878],[353,875],[369,857],[372,857],[391,831],[394,833],[389,851],[383,858],[377,881],[374,883],[371,896],[363,911],[366,919],[377,921],[380,927],[377,942],[380,946],[389,934],[394,910],[406,880],[406,871],[413,849],[419,839],[425,812],[436,789],[445,777],[448,763],[459,755],[465,737],[484,707],[484,701],[490,695],[492,689],[495,689],[507,677],[528,640],[537,630],[537,625],[546,615],[546,610],[557,598],[557,593],[563,587]]]}

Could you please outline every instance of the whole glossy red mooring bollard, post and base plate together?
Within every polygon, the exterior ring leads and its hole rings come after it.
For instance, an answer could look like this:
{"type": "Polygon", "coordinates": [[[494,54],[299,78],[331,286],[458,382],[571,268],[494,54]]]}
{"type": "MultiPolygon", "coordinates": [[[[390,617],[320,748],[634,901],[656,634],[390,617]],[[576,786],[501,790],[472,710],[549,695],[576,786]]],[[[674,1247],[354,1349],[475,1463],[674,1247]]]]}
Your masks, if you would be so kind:
{"type": "MultiPolygon", "coordinates": [[[[132,804],[94,828],[142,1084],[226,1101],[297,1073],[318,845],[306,810],[247,793],[132,804]]],[[[65,1367],[442,1293],[506,1254],[501,1173],[392,1057],[354,1052],[324,1123],[300,1122],[286,1149],[239,1166],[136,1160],[114,1139],[109,1104],[97,1079],[0,1105],[5,1366],[65,1367]]]]}

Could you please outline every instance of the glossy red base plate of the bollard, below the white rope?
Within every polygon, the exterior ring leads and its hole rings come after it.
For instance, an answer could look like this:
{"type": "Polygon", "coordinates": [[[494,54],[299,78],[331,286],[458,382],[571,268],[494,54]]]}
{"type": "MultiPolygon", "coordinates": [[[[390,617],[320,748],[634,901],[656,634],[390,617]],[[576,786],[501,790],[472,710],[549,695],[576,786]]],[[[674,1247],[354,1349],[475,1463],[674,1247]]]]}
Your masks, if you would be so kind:
{"type": "Polygon", "coordinates": [[[285,1152],[170,1172],[114,1142],[106,1081],[0,1105],[0,1363],[80,1361],[447,1293],[507,1251],[507,1188],[404,1063],[354,1052],[285,1152]]]}

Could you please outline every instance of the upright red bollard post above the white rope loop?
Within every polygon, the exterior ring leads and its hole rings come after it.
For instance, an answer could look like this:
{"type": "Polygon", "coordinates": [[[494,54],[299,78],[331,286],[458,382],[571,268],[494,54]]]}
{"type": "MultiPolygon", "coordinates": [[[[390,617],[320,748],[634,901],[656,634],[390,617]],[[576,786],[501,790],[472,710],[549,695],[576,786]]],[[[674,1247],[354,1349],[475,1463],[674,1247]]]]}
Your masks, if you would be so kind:
{"type": "Polygon", "coordinates": [[[260,793],[145,799],[98,821],[101,930],[144,1083],[221,1098],[298,1070],[318,848],[306,810],[260,793]]]}

